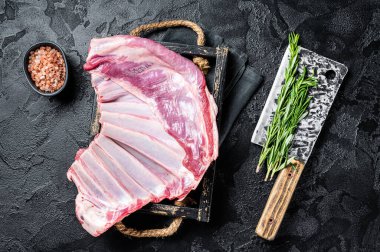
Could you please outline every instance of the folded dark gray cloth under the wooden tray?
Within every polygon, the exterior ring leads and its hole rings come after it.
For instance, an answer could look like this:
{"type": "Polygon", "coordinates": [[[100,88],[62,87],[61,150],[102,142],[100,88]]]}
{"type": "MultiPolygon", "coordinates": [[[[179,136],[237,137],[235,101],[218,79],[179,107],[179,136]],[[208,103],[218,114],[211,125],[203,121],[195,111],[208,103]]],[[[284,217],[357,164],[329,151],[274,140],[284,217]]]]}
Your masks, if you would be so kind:
{"type": "MultiPolygon", "coordinates": [[[[196,44],[193,31],[183,28],[168,29],[163,33],[154,34],[159,41],[196,44]]],[[[223,38],[215,34],[206,34],[206,46],[224,45],[229,48],[227,59],[226,81],[223,92],[222,122],[219,129],[220,144],[223,143],[231,130],[241,110],[246,106],[252,95],[263,81],[263,77],[247,65],[247,54],[224,43],[223,38]]],[[[206,76],[207,81],[213,80],[213,72],[206,76]]]]}

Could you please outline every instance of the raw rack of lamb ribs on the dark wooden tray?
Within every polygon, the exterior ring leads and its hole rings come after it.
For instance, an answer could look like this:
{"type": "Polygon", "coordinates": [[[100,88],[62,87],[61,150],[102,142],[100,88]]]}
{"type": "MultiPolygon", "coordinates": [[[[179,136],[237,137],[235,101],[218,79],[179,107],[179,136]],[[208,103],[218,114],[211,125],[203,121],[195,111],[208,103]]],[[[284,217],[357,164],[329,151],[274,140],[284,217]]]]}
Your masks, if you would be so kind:
{"type": "Polygon", "coordinates": [[[93,39],[101,131],[67,172],[76,214],[98,236],[149,202],[183,199],[218,155],[217,107],[202,72],[149,39],[93,39]]]}

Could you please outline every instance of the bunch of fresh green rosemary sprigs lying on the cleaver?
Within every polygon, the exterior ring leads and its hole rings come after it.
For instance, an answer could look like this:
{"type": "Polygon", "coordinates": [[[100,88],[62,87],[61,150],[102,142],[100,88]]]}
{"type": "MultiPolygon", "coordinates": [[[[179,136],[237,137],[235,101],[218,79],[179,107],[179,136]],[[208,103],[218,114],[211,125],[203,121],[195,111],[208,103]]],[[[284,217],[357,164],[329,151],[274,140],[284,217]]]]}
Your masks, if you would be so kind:
{"type": "Polygon", "coordinates": [[[308,90],[317,85],[312,73],[307,76],[307,69],[298,72],[299,35],[289,34],[289,65],[285,70],[285,81],[277,100],[277,108],[271,124],[267,129],[266,144],[261,152],[257,172],[264,161],[267,163],[265,180],[272,179],[274,174],[291,164],[289,149],[298,123],[307,115],[311,96],[308,90]]]}

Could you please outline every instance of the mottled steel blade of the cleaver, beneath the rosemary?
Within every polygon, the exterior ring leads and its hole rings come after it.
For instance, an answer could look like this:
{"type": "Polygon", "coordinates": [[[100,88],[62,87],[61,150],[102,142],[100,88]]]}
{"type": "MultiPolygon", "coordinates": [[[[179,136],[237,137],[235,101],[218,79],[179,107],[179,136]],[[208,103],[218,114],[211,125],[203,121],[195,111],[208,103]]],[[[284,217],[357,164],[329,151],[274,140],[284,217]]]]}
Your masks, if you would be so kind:
{"type": "MultiPolygon", "coordinates": [[[[313,96],[308,108],[309,113],[298,124],[289,150],[289,157],[294,157],[306,164],[348,69],[339,62],[303,47],[300,48],[299,56],[299,70],[306,67],[310,73],[314,69],[318,78],[318,85],[309,91],[310,95],[313,96]]],[[[253,132],[252,143],[263,146],[266,142],[266,130],[277,107],[277,97],[285,79],[285,69],[288,63],[289,47],[282,58],[264,109],[253,132]]]]}

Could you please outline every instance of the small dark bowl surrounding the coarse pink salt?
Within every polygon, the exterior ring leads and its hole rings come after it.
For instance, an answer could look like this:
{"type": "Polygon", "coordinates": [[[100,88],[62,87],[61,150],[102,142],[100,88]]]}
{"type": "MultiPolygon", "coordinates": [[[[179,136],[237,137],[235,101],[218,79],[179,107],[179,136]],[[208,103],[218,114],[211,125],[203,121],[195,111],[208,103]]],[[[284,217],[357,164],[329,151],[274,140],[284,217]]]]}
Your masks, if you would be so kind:
{"type": "Polygon", "coordinates": [[[25,56],[24,56],[24,73],[25,73],[25,76],[26,78],[28,79],[28,82],[31,86],[31,88],[36,91],[37,93],[39,93],[40,95],[43,95],[43,96],[55,96],[57,94],[59,94],[60,92],[62,92],[62,90],[66,87],[67,85],[67,81],[69,79],[69,68],[68,68],[68,64],[67,64],[67,59],[66,59],[66,56],[65,56],[65,52],[63,51],[63,49],[57,45],[56,43],[54,42],[40,42],[40,43],[37,43],[37,44],[34,44],[32,45],[25,53],[25,56]],[[65,76],[65,81],[62,85],[62,87],[60,87],[58,90],[54,91],[54,92],[45,92],[45,91],[42,91],[41,89],[39,89],[36,84],[34,83],[34,81],[32,80],[32,77],[28,71],[28,64],[29,64],[29,56],[30,56],[30,52],[31,51],[34,51],[38,48],[40,48],[41,46],[50,46],[51,48],[54,48],[56,50],[58,50],[61,54],[62,54],[62,58],[63,58],[63,61],[65,62],[65,68],[66,68],[66,76],[65,76]]]}

